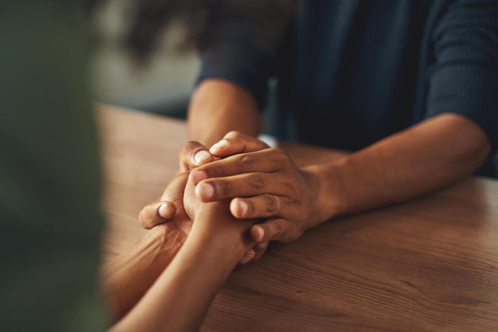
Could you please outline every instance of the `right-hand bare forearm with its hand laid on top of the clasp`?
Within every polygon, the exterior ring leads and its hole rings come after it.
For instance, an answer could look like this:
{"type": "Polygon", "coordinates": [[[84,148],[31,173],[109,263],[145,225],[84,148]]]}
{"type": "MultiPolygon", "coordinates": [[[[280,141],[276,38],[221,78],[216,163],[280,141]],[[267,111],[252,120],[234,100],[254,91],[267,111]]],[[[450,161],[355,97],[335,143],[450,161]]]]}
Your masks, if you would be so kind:
{"type": "Polygon", "coordinates": [[[191,178],[202,179],[196,182],[200,200],[232,199],[236,218],[270,218],[252,227],[256,241],[286,242],[330,218],[403,202],[471,174],[489,153],[482,134],[471,121],[443,114],[337,161],[298,168],[275,148],[231,155],[231,145],[257,140],[230,133],[237,138],[211,152],[231,156],[197,168],[191,178]],[[465,138],[459,140],[462,132],[465,138]],[[469,144],[469,138],[483,148],[469,144]],[[445,154],[452,143],[460,143],[459,153],[445,154]]]}

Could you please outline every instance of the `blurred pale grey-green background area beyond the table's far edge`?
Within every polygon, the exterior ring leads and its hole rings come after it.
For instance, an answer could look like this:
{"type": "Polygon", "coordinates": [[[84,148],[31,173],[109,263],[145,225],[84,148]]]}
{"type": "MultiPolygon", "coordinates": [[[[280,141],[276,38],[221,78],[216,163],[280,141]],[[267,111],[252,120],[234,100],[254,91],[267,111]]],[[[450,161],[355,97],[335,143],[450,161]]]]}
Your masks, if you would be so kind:
{"type": "MultiPolygon", "coordinates": [[[[130,1],[109,0],[95,15],[99,31],[92,70],[97,99],[103,103],[184,117],[199,70],[193,50],[179,51],[174,40],[182,38],[180,28],[163,32],[164,40],[145,64],[138,64],[124,50],[122,40],[128,28],[130,1]]],[[[162,39],[162,38],[161,38],[162,39]]]]}

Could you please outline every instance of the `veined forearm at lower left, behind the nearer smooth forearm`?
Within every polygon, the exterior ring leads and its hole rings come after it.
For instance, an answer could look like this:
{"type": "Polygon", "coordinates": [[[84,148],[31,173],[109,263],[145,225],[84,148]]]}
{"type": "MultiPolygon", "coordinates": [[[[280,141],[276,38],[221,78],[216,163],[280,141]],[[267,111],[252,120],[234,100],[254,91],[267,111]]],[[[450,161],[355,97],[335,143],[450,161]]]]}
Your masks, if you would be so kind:
{"type": "Polygon", "coordinates": [[[113,320],[121,319],[140,300],[173,260],[186,237],[173,222],[157,225],[105,264],[103,291],[113,320]]]}

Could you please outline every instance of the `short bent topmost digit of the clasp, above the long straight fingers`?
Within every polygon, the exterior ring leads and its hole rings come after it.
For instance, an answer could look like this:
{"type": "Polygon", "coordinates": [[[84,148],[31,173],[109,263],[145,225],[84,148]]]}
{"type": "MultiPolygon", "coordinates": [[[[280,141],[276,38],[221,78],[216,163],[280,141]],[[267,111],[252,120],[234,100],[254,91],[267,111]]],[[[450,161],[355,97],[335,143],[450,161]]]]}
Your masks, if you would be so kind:
{"type": "Polygon", "coordinates": [[[227,157],[267,148],[269,146],[257,138],[244,135],[238,131],[231,131],[222,140],[211,146],[209,152],[217,157],[227,157]]]}

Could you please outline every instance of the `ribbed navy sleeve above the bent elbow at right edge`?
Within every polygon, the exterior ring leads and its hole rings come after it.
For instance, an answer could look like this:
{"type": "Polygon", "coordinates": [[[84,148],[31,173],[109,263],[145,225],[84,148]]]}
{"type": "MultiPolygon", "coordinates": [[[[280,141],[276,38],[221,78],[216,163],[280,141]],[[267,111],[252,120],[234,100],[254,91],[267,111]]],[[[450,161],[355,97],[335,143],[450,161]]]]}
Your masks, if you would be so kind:
{"type": "Polygon", "coordinates": [[[427,117],[462,114],[498,148],[498,1],[448,3],[433,33],[427,117]],[[479,5],[478,5],[479,4],[479,5]]]}

